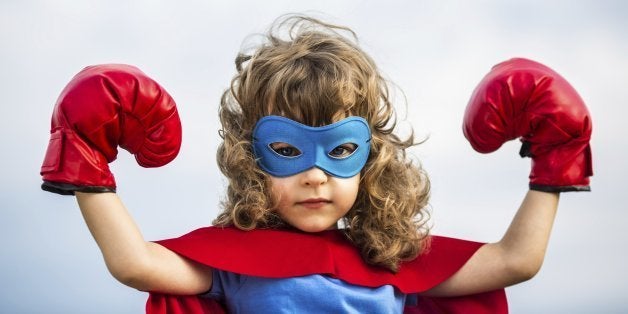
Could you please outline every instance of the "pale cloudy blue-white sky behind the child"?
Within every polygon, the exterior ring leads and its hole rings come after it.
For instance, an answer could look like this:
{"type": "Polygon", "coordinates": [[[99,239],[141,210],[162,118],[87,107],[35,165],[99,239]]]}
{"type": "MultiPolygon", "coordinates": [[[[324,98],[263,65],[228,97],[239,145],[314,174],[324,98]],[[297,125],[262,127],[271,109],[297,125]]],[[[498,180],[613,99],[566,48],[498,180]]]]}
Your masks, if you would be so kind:
{"type": "MultiPolygon", "coordinates": [[[[520,56],[565,76],[594,121],[592,193],[569,193],[541,272],[508,289],[512,313],[626,313],[628,4],[623,1],[0,2],[0,313],[138,313],[146,294],[113,279],[73,197],[44,193],[39,167],[67,81],[129,63],[177,100],[180,156],[143,169],[122,151],[119,194],[147,239],[210,224],[225,180],[215,163],[217,104],[242,40],[287,12],[352,27],[401,87],[402,127],[432,178],[434,233],[496,241],[527,189],[529,160],[508,143],[475,153],[466,102],[490,67],[520,56]]],[[[397,97],[401,100],[401,97],[397,97]]]]}

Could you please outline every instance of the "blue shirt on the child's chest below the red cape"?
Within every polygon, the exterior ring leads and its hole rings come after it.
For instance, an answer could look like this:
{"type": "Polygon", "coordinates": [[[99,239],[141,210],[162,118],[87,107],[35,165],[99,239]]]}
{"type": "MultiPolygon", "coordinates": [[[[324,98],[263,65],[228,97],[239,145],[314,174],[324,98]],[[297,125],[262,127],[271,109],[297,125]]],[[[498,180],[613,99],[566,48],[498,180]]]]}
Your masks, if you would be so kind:
{"type": "Polygon", "coordinates": [[[402,313],[405,295],[393,286],[355,286],[323,275],[262,278],[213,270],[207,297],[229,313],[402,313]]]}

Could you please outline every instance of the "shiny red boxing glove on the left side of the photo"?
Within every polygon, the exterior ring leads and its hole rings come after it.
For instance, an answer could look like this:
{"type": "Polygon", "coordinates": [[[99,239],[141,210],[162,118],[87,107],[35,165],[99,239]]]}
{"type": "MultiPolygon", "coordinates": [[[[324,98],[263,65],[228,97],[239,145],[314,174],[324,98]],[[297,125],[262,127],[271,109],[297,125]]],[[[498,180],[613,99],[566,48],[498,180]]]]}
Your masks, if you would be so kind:
{"type": "Polygon", "coordinates": [[[172,161],[181,146],[181,121],[170,95],[136,67],[95,65],[61,92],[52,113],[42,189],[64,195],[115,192],[108,163],[118,145],[143,167],[172,161]]]}

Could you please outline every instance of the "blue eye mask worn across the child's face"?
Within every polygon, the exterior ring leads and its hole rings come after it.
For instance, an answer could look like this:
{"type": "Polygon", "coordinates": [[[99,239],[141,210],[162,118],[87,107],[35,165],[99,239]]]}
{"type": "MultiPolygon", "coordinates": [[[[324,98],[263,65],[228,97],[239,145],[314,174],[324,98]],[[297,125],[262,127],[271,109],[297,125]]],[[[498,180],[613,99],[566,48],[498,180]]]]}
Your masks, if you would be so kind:
{"type": "Polygon", "coordinates": [[[353,177],[366,164],[370,141],[369,126],[360,117],[311,127],[280,116],[266,116],[253,130],[257,163],[275,177],[288,177],[314,167],[335,177],[353,177]]]}

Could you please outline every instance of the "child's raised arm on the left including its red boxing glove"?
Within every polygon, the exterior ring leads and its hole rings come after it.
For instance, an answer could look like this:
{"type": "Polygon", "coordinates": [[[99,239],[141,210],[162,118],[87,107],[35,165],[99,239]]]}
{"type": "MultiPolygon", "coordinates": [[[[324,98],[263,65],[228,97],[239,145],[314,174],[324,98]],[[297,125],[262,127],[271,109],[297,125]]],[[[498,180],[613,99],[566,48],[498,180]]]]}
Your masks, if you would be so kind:
{"type": "Polygon", "coordinates": [[[53,111],[42,189],[76,194],[112,275],[137,289],[190,294],[211,286],[210,271],[143,239],[115,194],[108,166],[118,146],[140,165],[158,167],[175,158],[180,144],[174,101],[132,66],[85,68],[62,91],[53,111]]]}

